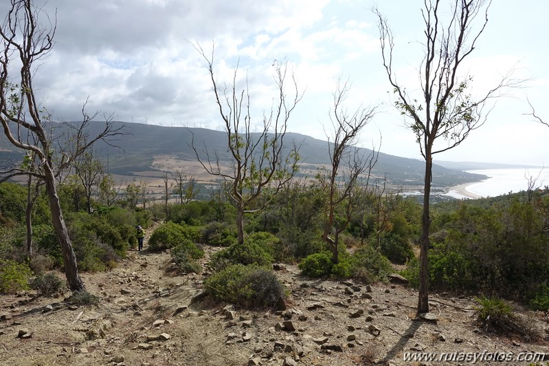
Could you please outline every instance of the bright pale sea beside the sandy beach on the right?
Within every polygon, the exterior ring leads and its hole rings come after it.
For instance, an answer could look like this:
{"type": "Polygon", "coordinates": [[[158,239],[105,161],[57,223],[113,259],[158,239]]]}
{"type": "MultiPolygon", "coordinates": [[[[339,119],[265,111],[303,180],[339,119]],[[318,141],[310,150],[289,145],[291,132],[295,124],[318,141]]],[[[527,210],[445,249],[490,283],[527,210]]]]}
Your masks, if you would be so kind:
{"type": "Polygon", "coordinates": [[[528,181],[535,180],[534,188],[549,185],[549,169],[484,169],[471,170],[468,173],[483,174],[488,177],[482,182],[465,186],[464,191],[451,190],[447,195],[456,198],[496,197],[507,193],[517,193],[528,189],[528,181]]]}

